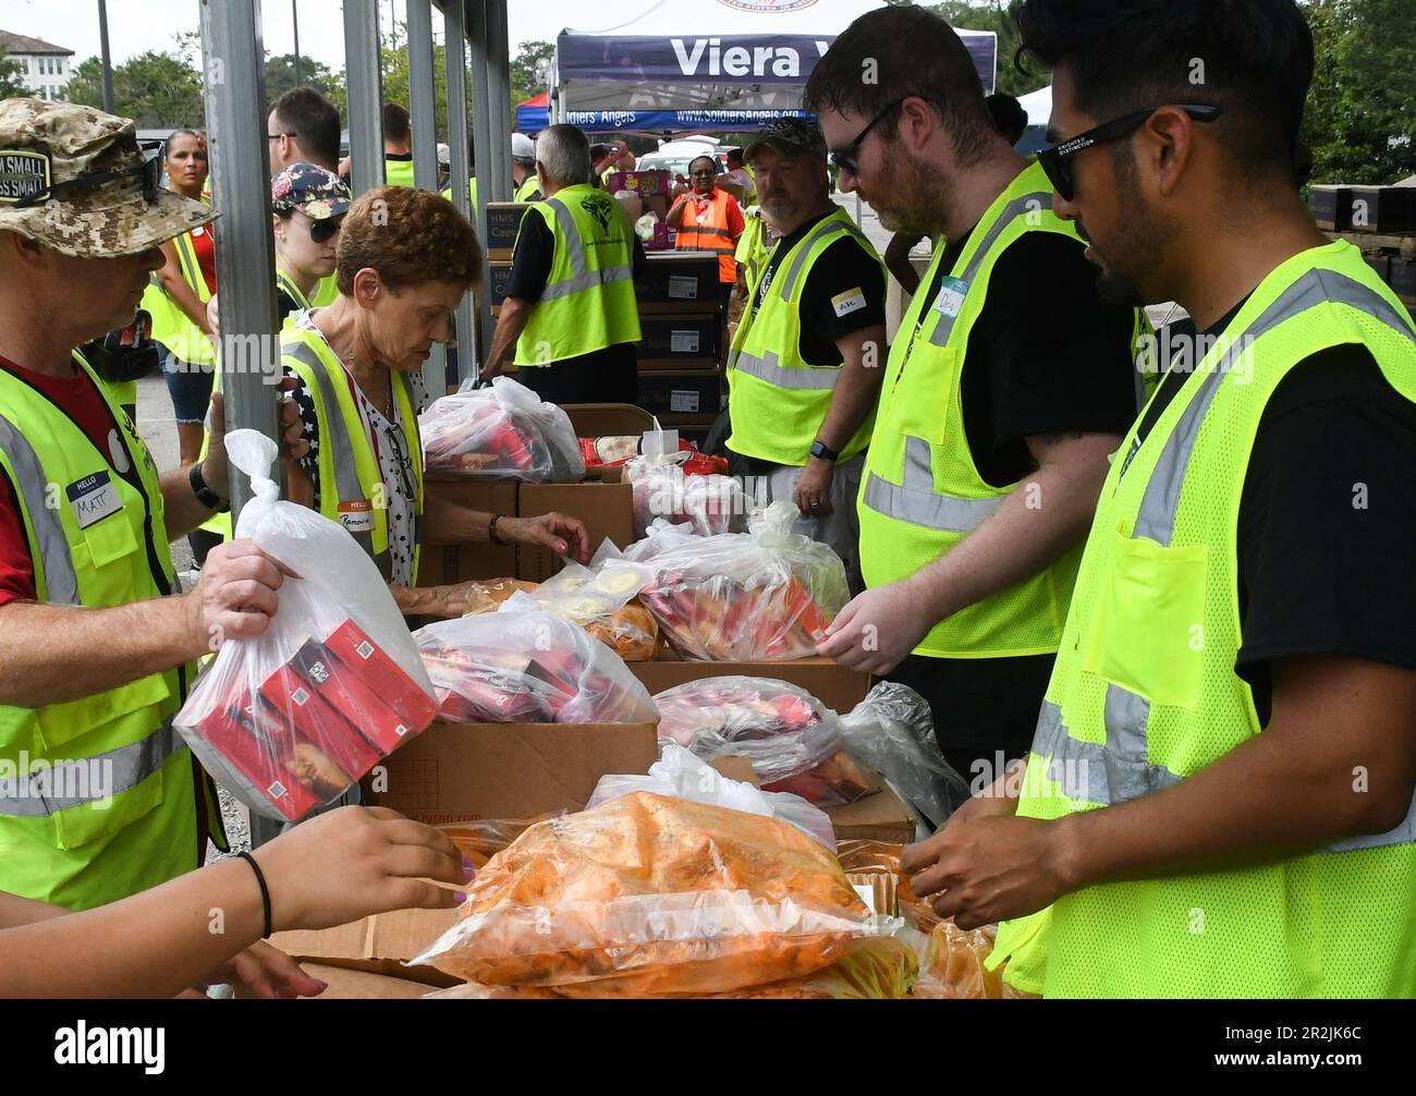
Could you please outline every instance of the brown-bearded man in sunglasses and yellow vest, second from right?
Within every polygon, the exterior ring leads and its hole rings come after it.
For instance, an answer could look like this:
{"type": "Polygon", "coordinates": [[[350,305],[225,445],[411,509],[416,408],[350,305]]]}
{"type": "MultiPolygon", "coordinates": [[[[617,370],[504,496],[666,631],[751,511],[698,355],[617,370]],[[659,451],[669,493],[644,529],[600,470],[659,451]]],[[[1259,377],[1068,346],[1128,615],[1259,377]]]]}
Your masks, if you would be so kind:
{"type": "Polygon", "coordinates": [[[1107,455],[1137,411],[1137,317],[1102,302],[942,18],[862,16],[806,106],[841,190],[886,229],[942,236],[884,367],[858,498],[868,589],[820,650],[923,694],[944,758],[987,786],[1032,741],[1107,455]]]}

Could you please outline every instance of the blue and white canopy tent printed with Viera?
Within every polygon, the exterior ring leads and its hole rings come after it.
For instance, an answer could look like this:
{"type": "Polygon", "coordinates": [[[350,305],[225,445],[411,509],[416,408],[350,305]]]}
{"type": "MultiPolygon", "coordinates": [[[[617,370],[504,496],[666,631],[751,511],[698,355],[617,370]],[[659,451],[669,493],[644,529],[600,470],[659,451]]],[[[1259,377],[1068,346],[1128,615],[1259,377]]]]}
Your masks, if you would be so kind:
{"type": "MultiPolygon", "coordinates": [[[[564,30],[549,116],[589,132],[755,130],[800,115],[801,89],[835,35],[881,0],[718,0],[629,4],[603,31],[564,30]],[[690,33],[694,31],[694,33],[690,33]]],[[[998,38],[959,30],[991,92],[998,38]]]]}

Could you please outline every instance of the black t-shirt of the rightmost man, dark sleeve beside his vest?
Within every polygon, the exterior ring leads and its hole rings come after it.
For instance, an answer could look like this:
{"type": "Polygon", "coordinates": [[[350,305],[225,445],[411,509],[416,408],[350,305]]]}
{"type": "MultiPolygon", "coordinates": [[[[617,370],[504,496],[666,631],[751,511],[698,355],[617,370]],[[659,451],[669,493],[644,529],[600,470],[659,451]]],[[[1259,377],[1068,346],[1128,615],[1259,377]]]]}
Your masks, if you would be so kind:
{"type": "MultiPolygon", "coordinates": [[[[1222,333],[1239,307],[1205,334],[1222,333]]],[[[1194,330],[1175,324],[1171,346],[1194,330]]],[[[1143,438],[1187,375],[1161,381],[1143,438]]],[[[1416,668],[1413,530],[1416,404],[1365,346],[1304,358],[1269,398],[1239,501],[1235,670],[1253,690],[1260,724],[1273,708],[1274,658],[1331,654],[1416,668]]]]}

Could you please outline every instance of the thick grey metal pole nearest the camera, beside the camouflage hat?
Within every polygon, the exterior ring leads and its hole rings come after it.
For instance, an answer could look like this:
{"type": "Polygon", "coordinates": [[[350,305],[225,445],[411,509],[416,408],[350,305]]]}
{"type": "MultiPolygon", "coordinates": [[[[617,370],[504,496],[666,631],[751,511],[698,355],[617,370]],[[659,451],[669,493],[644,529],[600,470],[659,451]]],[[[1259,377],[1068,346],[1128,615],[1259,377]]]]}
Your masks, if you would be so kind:
{"type": "MultiPolygon", "coordinates": [[[[221,286],[221,388],[227,429],[276,433],[280,321],[275,297],[270,178],[266,174],[265,52],[261,0],[202,0],[202,98],[221,286]]],[[[279,469],[278,469],[279,472],[279,469]]],[[[231,470],[232,521],[251,498],[231,470]]]]}

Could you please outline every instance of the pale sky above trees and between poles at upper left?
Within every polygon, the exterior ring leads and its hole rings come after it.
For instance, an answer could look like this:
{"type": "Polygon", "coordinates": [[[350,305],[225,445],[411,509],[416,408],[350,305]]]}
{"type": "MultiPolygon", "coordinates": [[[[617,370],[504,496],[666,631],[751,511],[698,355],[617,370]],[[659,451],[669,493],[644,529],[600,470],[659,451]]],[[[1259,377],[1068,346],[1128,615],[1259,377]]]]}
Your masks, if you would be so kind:
{"type": "MultiPolygon", "coordinates": [[[[362,0],[370,3],[372,0],[362,0]]],[[[300,13],[300,54],[330,68],[344,67],[344,24],[340,0],[296,0],[300,13]]],[[[381,25],[389,10],[402,20],[402,0],[378,0],[381,25]]],[[[147,50],[171,50],[180,31],[197,30],[197,0],[108,0],[108,38],[113,64],[147,50]]],[[[508,0],[507,23],[511,52],[523,41],[555,41],[564,27],[609,30],[586,25],[585,0],[508,0]]],[[[290,33],[290,0],[262,0],[265,48],[272,54],[295,50],[290,33]]],[[[622,21],[623,17],[605,17],[622,21]]],[[[44,38],[75,52],[78,64],[99,54],[98,0],[4,0],[0,28],[44,38]]],[[[440,37],[442,16],[433,8],[433,33],[440,37]]]]}

